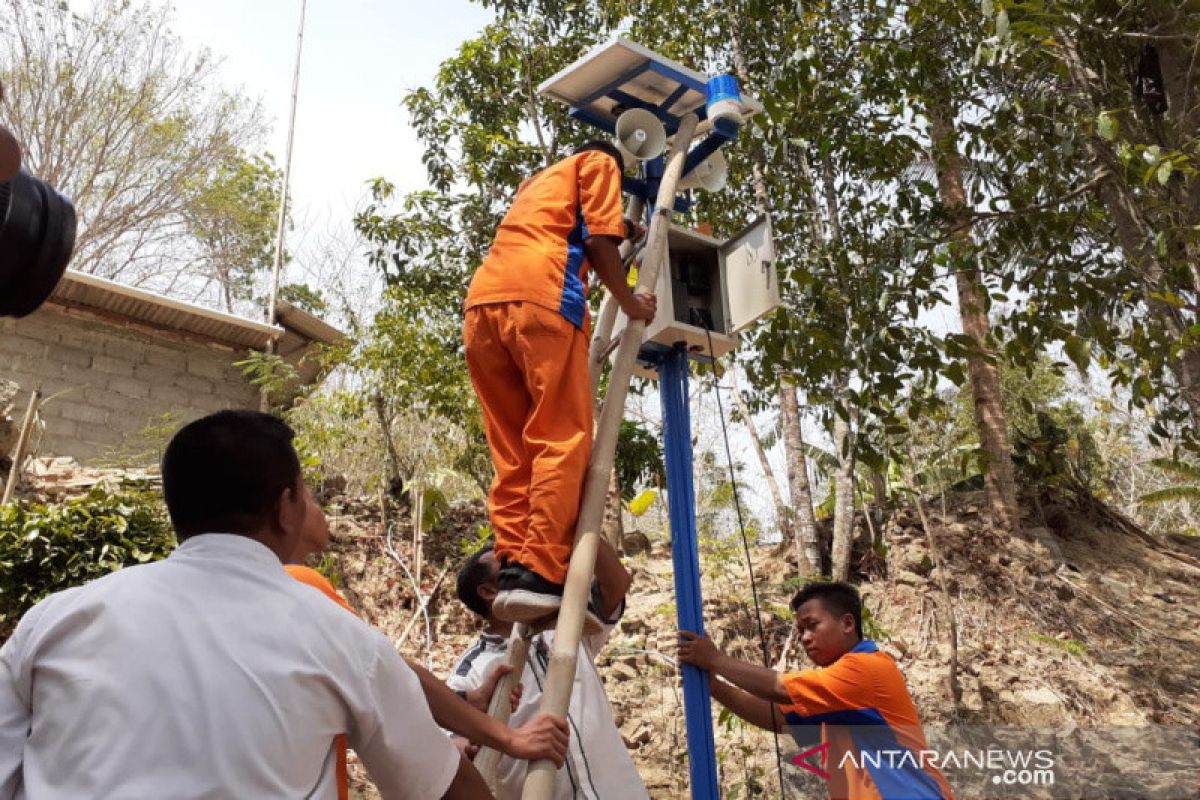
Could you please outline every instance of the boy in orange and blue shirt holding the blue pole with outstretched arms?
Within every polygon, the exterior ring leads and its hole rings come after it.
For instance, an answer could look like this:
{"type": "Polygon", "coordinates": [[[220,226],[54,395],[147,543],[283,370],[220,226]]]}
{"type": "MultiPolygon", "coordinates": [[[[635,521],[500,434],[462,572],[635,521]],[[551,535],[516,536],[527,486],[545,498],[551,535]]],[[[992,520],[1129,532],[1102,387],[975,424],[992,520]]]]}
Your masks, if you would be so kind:
{"type": "Polygon", "coordinates": [[[953,800],[892,656],[863,638],[863,603],[846,583],[810,583],[792,599],[804,651],[821,669],[781,673],[732,658],[708,637],[680,631],[679,660],[708,670],[713,697],[802,750],[821,728],[832,800],[953,800]],[[731,685],[732,684],[732,685],[731,685]],[[764,703],[763,700],[768,700],[764,703]]]}

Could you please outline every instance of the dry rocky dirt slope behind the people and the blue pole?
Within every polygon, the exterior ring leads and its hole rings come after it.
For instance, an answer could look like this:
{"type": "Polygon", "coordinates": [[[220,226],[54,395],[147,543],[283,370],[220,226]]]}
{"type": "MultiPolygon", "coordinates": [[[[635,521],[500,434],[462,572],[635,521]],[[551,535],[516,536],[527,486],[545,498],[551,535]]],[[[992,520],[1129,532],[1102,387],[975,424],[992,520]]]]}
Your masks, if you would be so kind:
{"type": "MultiPolygon", "coordinates": [[[[1027,515],[1027,536],[1020,539],[988,525],[982,495],[953,497],[944,511],[940,499],[928,506],[935,549],[914,509],[896,510],[883,522],[878,533],[886,548],[859,549],[869,632],[898,660],[926,728],[1190,727],[1194,735],[1200,724],[1200,542],[1176,537],[1152,543],[1118,516],[1079,498],[1043,495],[1031,503],[1039,512],[1027,515]],[[943,563],[944,589],[937,561],[943,563]],[[952,615],[958,702],[950,684],[952,615]]],[[[407,655],[445,674],[476,628],[454,599],[452,570],[434,594],[432,642],[426,642],[424,621],[410,625],[416,608],[412,584],[389,557],[373,515],[364,506],[334,517],[332,558],[325,566],[340,576],[342,590],[367,621],[395,639],[403,637],[407,655]]],[[[457,509],[430,535],[431,548],[452,560],[480,522],[478,505],[457,509]]],[[[409,536],[397,528],[394,542],[406,564],[412,563],[409,536]]],[[[688,765],[682,688],[672,661],[671,558],[666,542],[654,536],[650,542],[648,551],[628,559],[634,573],[628,613],[600,667],[617,724],[652,796],[682,798],[688,765]]],[[[426,563],[426,594],[446,563],[426,563]]],[[[798,585],[791,547],[758,548],[754,571],[772,662],[810,666],[784,619],[798,585]]],[[[714,638],[761,661],[745,565],[728,555],[707,560],[704,596],[714,638]]],[[[716,744],[726,796],[779,795],[769,735],[721,715],[716,744]]],[[[786,764],[796,747],[781,738],[780,748],[786,764]]],[[[1126,754],[1112,751],[1100,747],[1088,758],[1108,758],[1116,769],[1126,754]]],[[[1200,760],[1186,766],[1200,769],[1200,760]]],[[[824,796],[817,778],[791,765],[785,771],[794,787],[790,796],[824,796]]],[[[354,780],[356,796],[376,796],[361,769],[354,780]]],[[[1136,780],[1151,787],[1152,778],[1136,780]]]]}

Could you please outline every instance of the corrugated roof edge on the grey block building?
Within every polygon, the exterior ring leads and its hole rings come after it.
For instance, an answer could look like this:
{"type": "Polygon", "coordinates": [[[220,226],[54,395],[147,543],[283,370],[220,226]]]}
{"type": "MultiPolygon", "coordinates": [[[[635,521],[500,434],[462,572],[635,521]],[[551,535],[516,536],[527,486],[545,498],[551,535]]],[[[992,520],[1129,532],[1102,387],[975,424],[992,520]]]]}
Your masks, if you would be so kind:
{"type": "Polygon", "coordinates": [[[280,355],[298,366],[305,383],[318,372],[317,365],[304,359],[310,348],[346,338],[336,327],[288,302],[280,301],[276,306],[278,325],[268,325],[74,270],[66,271],[49,302],[128,320],[151,332],[160,330],[235,349],[264,350],[275,339],[280,355]]]}

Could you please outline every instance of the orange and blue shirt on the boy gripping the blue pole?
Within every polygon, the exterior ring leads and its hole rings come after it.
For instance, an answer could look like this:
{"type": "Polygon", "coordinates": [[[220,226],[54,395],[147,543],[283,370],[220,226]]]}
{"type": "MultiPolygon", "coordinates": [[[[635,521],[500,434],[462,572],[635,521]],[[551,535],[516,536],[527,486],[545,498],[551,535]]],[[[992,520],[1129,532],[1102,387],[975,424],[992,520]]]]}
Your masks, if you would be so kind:
{"type": "Polygon", "coordinates": [[[895,661],[863,639],[823,669],[787,673],[790,732],[808,750],[809,726],[821,726],[830,800],[906,798],[953,800],[928,751],[908,686],[895,661]]]}

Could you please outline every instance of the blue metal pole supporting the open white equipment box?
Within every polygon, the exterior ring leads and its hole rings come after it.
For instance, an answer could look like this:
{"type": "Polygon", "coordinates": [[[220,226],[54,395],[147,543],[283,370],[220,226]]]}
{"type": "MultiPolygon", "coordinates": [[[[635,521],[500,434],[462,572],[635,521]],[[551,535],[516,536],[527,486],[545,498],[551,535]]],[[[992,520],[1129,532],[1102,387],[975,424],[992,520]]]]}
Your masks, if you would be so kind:
{"type": "MultiPolygon", "coordinates": [[[[704,632],[700,596],[700,549],[696,541],[696,489],[691,473],[691,413],[688,410],[688,351],[674,348],[659,362],[662,440],[667,461],[671,509],[671,558],[674,560],[679,628],[704,632]]],[[[716,745],[708,673],[683,666],[683,703],[688,718],[688,771],[694,800],[719,800],[716,745]]]]}

